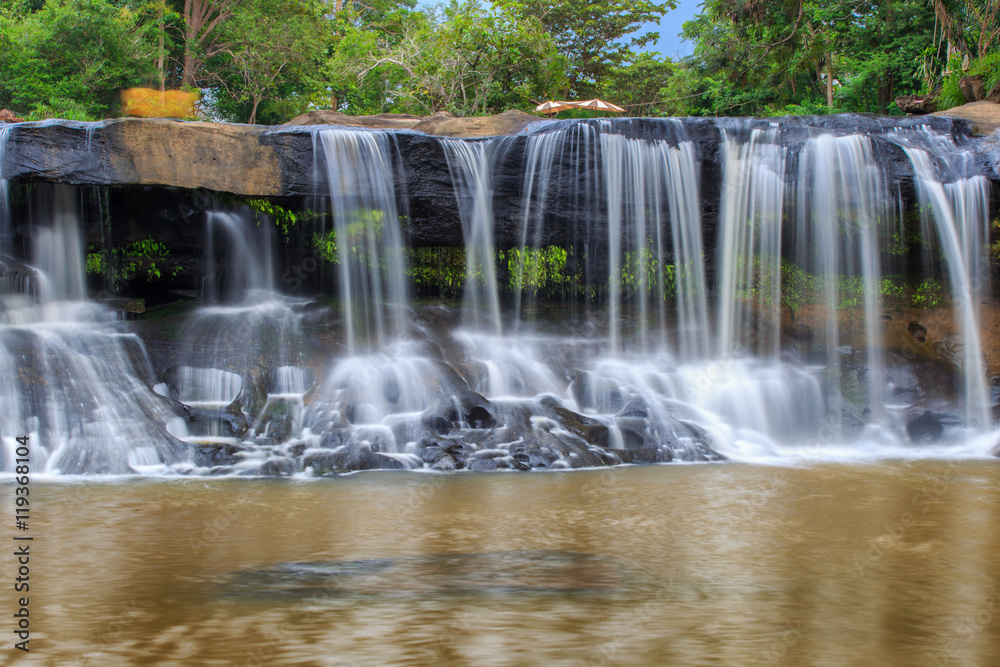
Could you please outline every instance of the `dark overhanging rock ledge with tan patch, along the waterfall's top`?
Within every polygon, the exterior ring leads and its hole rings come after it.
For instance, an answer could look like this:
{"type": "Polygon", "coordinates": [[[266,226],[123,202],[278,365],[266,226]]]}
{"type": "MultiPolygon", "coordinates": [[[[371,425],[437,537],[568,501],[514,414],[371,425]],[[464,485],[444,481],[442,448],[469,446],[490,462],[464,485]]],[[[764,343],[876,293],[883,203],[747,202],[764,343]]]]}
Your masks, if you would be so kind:
{"type": "MultiPolygon", "coordinates": [[[[346,117],[345,117],[346,118],[346,117]]],[[[312,122],[346,122],[340,116],[313,115],[295,125],[260,127],[189,123],[171,120],[117,119],[101,123],[45,121],[13,126],[4,151],[3,175],[15,185],[59,182],[108,188],[111,233],[117,243],[147,236],[165,243],[185,273],[198,275],[204,262],[203,212],[219,198],[263,198],[282,207],[301,211],[318,206],[314,198],[327,194],[323,157],[317,154],[317,126],[312,122]]],[[[357,119],[355,119],[357,120],[357,119]]],[[[521,242],[522,194],[526,151],[532,137],[564,132],[581,121],[549,121],[526,114],[507,113],[487,119],[457,119],[435,116],[371,117],[363,127],[395,127],[392,160],[395,191],[400,209],[405,211],[406,243],[413,247],[462,246],[459,217],[461,202],[456,198],[452,175],[442,142],[456,137],[499,135],[491,141],[494,206],[494,243],[501,249],[521,242]],[[530,127],[528,133],[522,131],[530,127]],[[409,126],[409,129],[406,129],[409,126]],[[447,138],[420,131],[447,135],[447,138]]],[[[352,121],[353,122],[353,121],[352,121]]],[[[614,119],[585,121],[593,128],[607,128],[628,138],[658,139],[671,145],[681,140],[695,145],[700,164],[699,201],[705,238],[706,258],[715,247],[719,190],[722,181],[721,143],[726,133],[767,130],[780,124],[781,141],[794,165],[797,152],[818,131],[841,134],[864,133],[871,138],[878,163],[905,206],[915,201],[913,174],[903,150],[884,135],[898,126],[925,126],[950,133],[961,144],[981,145],[984,171],[1000,180],[994,171],[995,153],[989,138],[977,139],[960,119],[943,117],[885,119],[866,115],[829,117],[789,117],[783,119],[614,119]],[[992,151],[992,153],[991,153],[992,151]]],[[[603,131],[603,130],[601,130],[603,131]]],[[[542,245],[569,247],[596,243],[592,257],[607,255],[606,237],[594,241],[591,230],[606,226],[606,200],[601,188],[602,159],[596,152],[586,168],[579,167],[578,152],[559,152],[552,173],[559,174],[550,184],[545,207],[542,245]],[[588,192],[581,197],[580,192],[588,192]],[[588,240],[589,239],[589,240],[588,240]]],[[[786,173],[789,185],[796,170],[786,173]]],[[[994,193],[1000,188],[994,188],[994,193]]],[[[16,205],[16,204],[15,204],[16,205]]],[[[23,216],[22,216],[23,217],[23,216]]],[[[30,234],[21,230],[22,235],[30,234]]],[[[88,241],[102,239],[102,230],[92,225],[88,241]]],[[[301,256],[305,238],[293,232],[285,254],[301,256]]],[[[293,260],[294,261],[294,260],[293,260]]],[[[709,259],[709,261],[711,261],[709,259]]],[[[598,274],[606,273],[595,267],[598,274]]],[[[179,283],[164,277],[160,282],[178,288],[179,283]]]]}

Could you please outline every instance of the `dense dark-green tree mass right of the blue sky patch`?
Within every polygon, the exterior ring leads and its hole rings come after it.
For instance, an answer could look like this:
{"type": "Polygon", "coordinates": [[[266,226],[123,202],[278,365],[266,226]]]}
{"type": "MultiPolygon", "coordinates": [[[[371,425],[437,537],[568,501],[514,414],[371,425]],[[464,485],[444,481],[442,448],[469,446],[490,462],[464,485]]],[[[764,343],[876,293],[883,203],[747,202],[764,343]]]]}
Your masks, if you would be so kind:
{"type": "Polygon", "coordinates": [[[921,0],[707,0],[684,30],[695,55],[665,98],[693,113],[887,113],[925,87],[935,21],[921,0]]]}

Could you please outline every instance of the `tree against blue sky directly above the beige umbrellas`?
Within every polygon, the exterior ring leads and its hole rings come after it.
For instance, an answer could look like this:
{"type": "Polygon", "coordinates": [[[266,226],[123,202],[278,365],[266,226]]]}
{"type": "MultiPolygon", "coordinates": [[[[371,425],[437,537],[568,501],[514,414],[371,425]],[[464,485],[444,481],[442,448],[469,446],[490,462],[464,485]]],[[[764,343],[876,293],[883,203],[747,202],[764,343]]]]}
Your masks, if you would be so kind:
{"type": "MultiPolygon", "coordinates": [[[[656,23],[676,0],[499,0],[524,19],[537,17],[569,61],[567,97],[592,97],[602,79],[626,64],[636,49],[659,35],[643,28],[656,23]]],[[[555,92],[555,91],[553,91],[555,92]]]]}

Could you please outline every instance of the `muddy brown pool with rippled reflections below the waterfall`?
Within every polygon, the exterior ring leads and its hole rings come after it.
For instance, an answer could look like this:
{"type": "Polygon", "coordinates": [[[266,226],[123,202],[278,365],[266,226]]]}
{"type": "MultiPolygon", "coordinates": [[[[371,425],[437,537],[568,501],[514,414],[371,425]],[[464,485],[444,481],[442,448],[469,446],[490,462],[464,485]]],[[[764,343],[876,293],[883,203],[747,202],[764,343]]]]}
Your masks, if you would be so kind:
{"type": "Polygon", "coordinates": [[[0,664],[1000,656],[993,461],[35,483],[32,498],[32,652],[0,664]]]}

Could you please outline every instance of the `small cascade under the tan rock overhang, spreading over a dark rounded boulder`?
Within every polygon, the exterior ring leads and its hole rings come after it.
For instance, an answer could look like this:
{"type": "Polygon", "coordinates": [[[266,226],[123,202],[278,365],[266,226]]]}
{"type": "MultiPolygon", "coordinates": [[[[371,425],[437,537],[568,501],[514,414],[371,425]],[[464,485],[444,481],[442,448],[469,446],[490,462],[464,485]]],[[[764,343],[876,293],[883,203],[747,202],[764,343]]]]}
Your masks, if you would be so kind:
{"type": "MultiPolygon", "coordinates": [[[[206,213],[203,298],[213,305],[184,321],[183,365],[168,371],[164,388],[196,417],[174,434],[199,448],[199,464],[241,438],[266,439],[279,424],[298,428],[309,388],[302,304],[277,292],[273,226],[254,218],[246,209],[206,213]]],[[[245,463],[236,470],[255,471],[259,461],[245,463]]]]}

